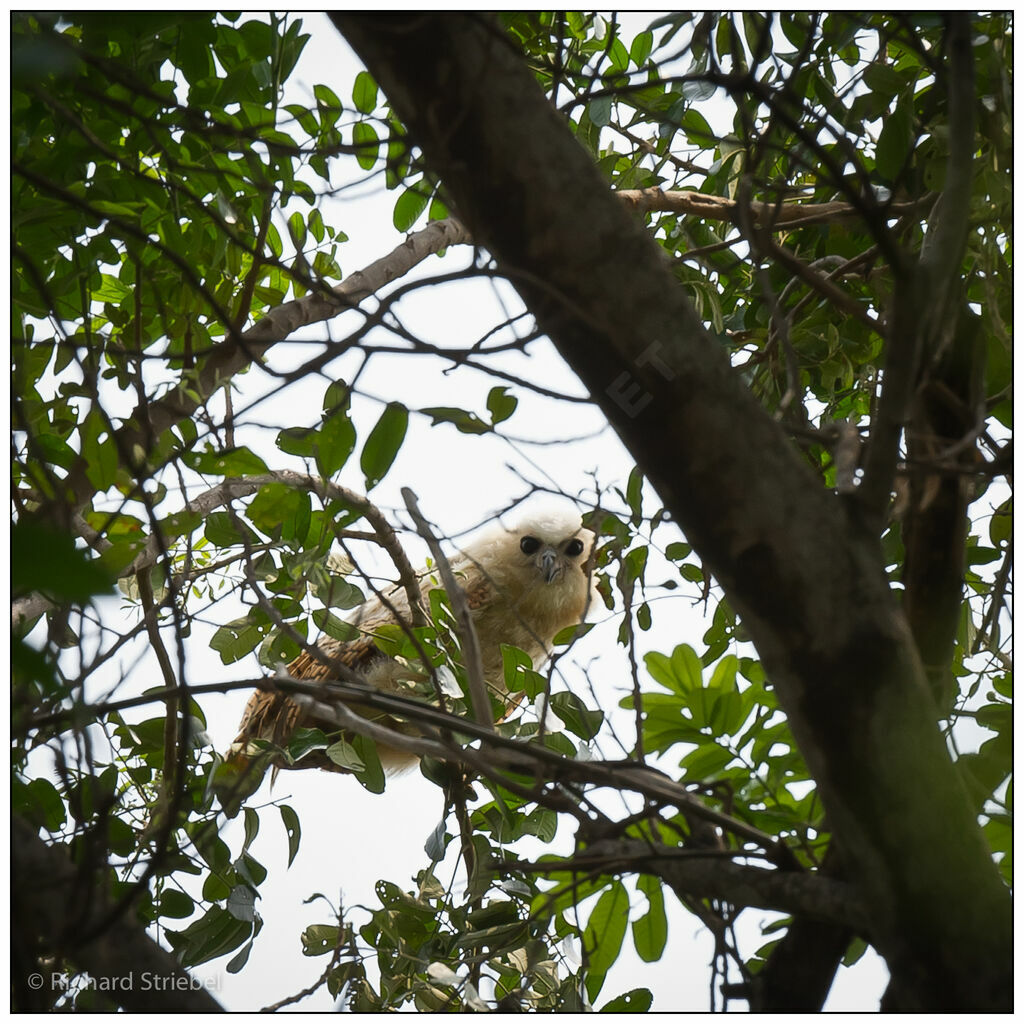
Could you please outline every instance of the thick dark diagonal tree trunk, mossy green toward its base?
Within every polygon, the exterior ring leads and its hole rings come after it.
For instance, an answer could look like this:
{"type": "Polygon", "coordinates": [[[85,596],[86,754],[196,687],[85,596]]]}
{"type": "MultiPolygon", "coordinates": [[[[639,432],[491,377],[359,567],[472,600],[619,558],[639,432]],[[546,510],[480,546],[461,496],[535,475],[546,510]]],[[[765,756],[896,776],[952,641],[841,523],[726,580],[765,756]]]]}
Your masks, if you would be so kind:
{"type": "Polygon", "coordinates": [[[742,615],[906,1010],[1008,1009],[1010,897],[874,537],[730,371],[485,15],[332,15],[742,615]]]}

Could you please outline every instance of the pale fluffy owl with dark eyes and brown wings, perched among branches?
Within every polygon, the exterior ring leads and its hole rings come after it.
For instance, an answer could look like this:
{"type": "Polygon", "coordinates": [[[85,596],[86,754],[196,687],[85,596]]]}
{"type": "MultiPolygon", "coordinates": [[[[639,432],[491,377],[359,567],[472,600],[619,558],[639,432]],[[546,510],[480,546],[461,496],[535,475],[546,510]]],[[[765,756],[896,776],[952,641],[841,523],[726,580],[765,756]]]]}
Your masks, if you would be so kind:
{"type": "MultiPolygon", "coordinates": [[[[594,535],[581,525],[578,516],[548,514],[528,518],[513,529],[497,525],[451,559],[452,570],[472,612],[483,678],[492,693],[507,698],[509,709],[514,707],[516,699],[505,687],[501,645],[519,647],[529,655],[534,667],[540,668],[551,652],[556,634],[582,622],[594,600],[586,564],[593,543],[594,535]]],[[[426,569],[418,575],[426,602],[429,591],[440,584],[436,575],[429,574],[426,569]]],[[[386,597],[408,621],[409,603],[404,591],[397,588],[386,597]]],[[[321,653],[356,672],[376,689],[408,693],[410,667],[384,654],[374,642],[376,630],[395,622],[391,611],[375,598],[360,605],[349,621],[359,629],[361,636],[347,642],[324,639],[317,644],[321,653]]],[[[339,678],[337,670],[332,672],[330,665],[309,651],[303,651],[287,671],[296,679],[330,681],[339,678]]],[[[349,707],[359,715],[401,728],[379,712],[349,707]]],[[[261,756],[265,760],[253,740],[265,739],[282,746],[297,728],[303,726],[337,732],[337,726],[316,721],[283,693],[254,693],[226,758],[227,779],[240,781],[250,762],[261,756]]],[[[383,749],[380,743],[378,754],[389,771],[416,761],[412,755],[383,749]]],[[[344,770],[323,752],[307,755],[295,765],[288,765],[281,759],[267,763],[282,768],[344,770]]],[[[253,782],[258,783],[262,771],[256,772],[253,782]]],[[[246,785],[245,790],[248,792],[251,787],[246,785]]]]}

